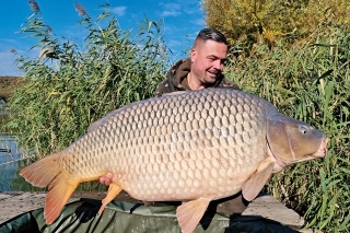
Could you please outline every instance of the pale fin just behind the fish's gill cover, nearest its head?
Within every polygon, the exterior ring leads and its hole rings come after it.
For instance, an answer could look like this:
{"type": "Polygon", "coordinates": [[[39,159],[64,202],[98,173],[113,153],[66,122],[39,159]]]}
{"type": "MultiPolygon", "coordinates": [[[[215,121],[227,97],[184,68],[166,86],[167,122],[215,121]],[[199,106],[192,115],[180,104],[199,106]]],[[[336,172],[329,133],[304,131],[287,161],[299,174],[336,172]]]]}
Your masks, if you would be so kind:
{"type": "Polygon", "coordinates": [[[253,200],[262,189],[264,185],[272,174],[275,161],[270,158],[262,161],[256,172],[246,180],[242,186],[243,197],[250,201],[253,200]]]}

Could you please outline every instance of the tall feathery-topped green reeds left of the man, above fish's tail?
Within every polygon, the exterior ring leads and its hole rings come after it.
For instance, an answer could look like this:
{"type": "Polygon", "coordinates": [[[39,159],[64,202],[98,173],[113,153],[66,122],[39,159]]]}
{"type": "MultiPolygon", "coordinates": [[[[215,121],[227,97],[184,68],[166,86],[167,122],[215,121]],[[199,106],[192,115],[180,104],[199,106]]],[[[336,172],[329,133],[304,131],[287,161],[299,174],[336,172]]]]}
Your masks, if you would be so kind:
{"type": "Polygon", "coordinates": [[[82,16],[77,31],[86,35],[83,43],[48,30],[37,3],[22,26],[28,37],[38,39],[33,47],[40,53],[39,59],[16,60],[25,84],[10,98],[5,131],[21,136],[20,144],[37,156],[67,147],[110,110],[152,96],[164,78],[168,66],[161,22],[145,19],[131,36],[106,7],[94,20],[75,3],[82,16]]]}

